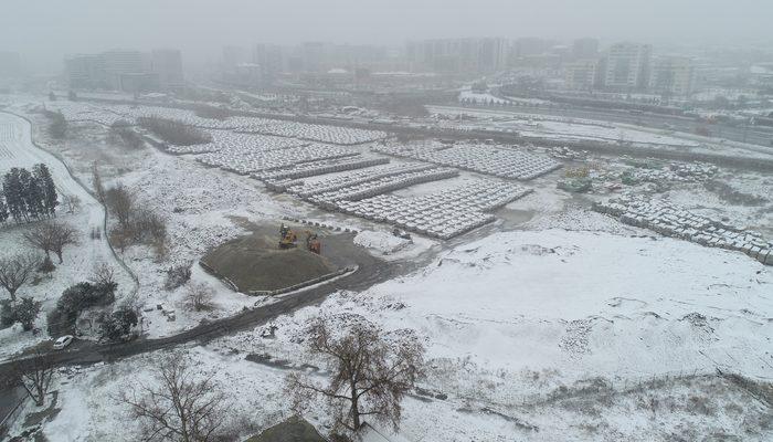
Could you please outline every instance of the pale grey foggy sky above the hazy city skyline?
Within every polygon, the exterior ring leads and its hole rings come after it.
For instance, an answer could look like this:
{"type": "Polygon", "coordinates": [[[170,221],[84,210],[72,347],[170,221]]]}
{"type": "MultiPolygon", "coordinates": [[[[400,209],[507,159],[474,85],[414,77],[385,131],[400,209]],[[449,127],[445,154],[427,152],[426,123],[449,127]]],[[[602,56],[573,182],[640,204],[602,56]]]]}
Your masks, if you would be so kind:
{"type": "Polygon", "coordinates": [[[409,39],[544,36],[658,43],[772,39],[771,0],[0,0],[0,51],[33,70],[67,53],[177,48],[187,63],[224,44],[402,45],[409,39]]]}

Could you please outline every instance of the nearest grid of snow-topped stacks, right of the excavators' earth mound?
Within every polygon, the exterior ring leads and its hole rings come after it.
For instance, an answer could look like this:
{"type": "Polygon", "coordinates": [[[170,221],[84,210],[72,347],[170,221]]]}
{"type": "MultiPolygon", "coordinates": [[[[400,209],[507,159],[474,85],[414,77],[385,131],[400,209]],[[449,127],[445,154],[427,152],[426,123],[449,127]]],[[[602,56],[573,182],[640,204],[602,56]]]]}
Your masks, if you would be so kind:
{"type": "Polygon", "coordinates": [[[338,200],[342,212],[426,236],[448,240],[495,220],[491,211],[531,190],[511,182],[479,180],[420,198],[382,194],[359,201],[338,200]]]}

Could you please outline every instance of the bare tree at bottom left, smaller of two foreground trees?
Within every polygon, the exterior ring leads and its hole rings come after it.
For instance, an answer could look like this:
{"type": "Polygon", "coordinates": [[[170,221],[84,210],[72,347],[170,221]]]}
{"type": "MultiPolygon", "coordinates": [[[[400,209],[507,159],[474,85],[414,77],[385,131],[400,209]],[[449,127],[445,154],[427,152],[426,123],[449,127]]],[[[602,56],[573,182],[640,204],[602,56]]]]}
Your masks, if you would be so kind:
{"type": "Polygon", "coordinates": [[[118,401],[141,424],[142,441],[209,442],[221,440],[227,413],[225,394],[207,376],[197,379],[179,352],[155,367],[155,382],[129,388],[118,401]]]}

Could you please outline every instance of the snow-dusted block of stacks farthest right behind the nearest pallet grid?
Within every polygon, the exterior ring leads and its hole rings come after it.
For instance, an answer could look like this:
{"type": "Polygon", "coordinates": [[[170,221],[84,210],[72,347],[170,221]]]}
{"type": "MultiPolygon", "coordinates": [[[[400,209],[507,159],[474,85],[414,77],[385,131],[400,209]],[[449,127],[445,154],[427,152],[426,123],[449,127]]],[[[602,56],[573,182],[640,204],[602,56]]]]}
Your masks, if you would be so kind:
{"type": "Polygon", "coordinates": [[[495,177],[530,180],[561,167],[552,158],[500,146],[374,146],[373,150],[398,157],[414,158],[457,167],[495,177]]]}

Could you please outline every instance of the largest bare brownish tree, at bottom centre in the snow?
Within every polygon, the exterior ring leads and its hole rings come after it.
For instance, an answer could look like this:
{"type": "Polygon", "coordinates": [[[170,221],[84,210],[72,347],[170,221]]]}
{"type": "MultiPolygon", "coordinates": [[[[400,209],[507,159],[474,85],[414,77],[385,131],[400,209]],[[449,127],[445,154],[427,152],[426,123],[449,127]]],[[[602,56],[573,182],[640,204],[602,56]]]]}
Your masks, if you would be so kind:
{"type": "Polygon", "coordinates": [[[423,365],[424,348],[415,336],[384,334],[357,315],[313,319],[308,335],[308,351],[327,360],[332,377],[322,386],[299,372],[288,375],[294,408],[303,411],[321,397],[335,417],[333,431],[357,432],[367,417],[396,430],[401,401],[423,365]]]}

